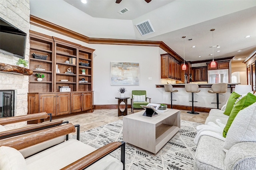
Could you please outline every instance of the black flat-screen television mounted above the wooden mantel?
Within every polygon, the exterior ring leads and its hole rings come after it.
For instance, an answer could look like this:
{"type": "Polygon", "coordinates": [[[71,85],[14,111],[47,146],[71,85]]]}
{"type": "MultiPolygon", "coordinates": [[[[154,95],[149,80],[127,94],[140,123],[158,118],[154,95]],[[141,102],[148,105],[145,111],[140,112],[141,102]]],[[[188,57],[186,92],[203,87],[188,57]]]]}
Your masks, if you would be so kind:
{"type": "Polygon", "coordinates": [[[27,34],[0,18],[0,52],[25,59],[27,34]]]}

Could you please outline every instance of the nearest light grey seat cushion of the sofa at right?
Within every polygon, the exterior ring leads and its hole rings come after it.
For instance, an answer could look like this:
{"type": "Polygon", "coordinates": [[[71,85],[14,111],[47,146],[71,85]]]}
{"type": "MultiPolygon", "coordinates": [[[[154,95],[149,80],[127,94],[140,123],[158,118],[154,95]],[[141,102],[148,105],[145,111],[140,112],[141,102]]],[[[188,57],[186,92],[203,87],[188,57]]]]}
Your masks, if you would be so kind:
{"type": "Polygon", "coordinates": [[[195,170],[225,170],[222,140],[211,136],[202,136],[198,143],[195,157],[195,170]]]}

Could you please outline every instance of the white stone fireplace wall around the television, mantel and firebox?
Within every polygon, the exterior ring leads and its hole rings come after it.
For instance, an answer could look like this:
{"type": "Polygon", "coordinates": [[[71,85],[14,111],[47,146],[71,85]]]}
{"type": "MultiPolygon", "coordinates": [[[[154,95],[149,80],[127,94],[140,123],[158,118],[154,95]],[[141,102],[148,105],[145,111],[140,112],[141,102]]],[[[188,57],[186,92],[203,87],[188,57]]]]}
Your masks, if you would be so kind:
{"type": "MultiPolygon", "coordinates": [[[[0,17],[19,28],[27,34],[26,38],[26,56],[28,60],[29,55],[29,21],[30,21],[30,5],[29,0],[14,1],[1,0],[0,1],[0,17]]],[[[0,62],[10,65],[16,65],[18,57],[5,55],[0,53],[0,62]]],[[[26,115],[28,113],[28,76],[22,74],[12,74],[0,72],[0,90],[14,91],[14,116],[26,115]]],[[[20,127],[25,123],[15,124],[12,127],[20,127]]]]}

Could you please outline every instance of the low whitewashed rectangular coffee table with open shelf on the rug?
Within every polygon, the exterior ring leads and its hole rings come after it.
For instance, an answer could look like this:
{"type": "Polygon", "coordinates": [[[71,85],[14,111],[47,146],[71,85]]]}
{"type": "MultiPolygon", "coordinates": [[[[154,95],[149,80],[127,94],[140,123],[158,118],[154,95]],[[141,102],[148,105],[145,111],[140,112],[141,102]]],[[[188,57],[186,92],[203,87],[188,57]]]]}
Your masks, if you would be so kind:
{"type": "Polygon", "coordinates": [[[168,109],[152,117],[143,113],[123,117],[123,140],[156,154],[180,130],[180,110],[168,109]]]}

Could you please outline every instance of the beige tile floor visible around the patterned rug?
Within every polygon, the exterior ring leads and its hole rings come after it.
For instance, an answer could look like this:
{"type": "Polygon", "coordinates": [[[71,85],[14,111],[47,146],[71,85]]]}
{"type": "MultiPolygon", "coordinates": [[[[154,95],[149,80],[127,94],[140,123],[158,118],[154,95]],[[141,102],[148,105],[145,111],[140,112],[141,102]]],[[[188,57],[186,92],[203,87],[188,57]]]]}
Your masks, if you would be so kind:
{"type": "MultiPolygon", "coordinates": [[[[141,110],[134,110],[134,112],[138,112],[141,110]]],[[[208,117],[208,113],[199,112],[199,115],[191,115],[186,113],[187,111],[181,111],[180,119],[184,121],[192,121],[198,123],[204,123],[206,117],[208,117]]],[[[128,115],[131,114],[131,109],[128,109],[128,115]]],[[[99,127],[101,125],[105,125],[110,122],[117,121],[118,119],[122,119],[124,116],[118,117],[117,109],[98,109],[94,110],[93,113],[83,113],[79,115],[73,115],[68,117],[62,117],[61,120],[69,121],[73,125],[80,125],[80,132],[85,130],[99,127]]],[[[53,119],[53,120],[60,120],[53,119]]]]}

